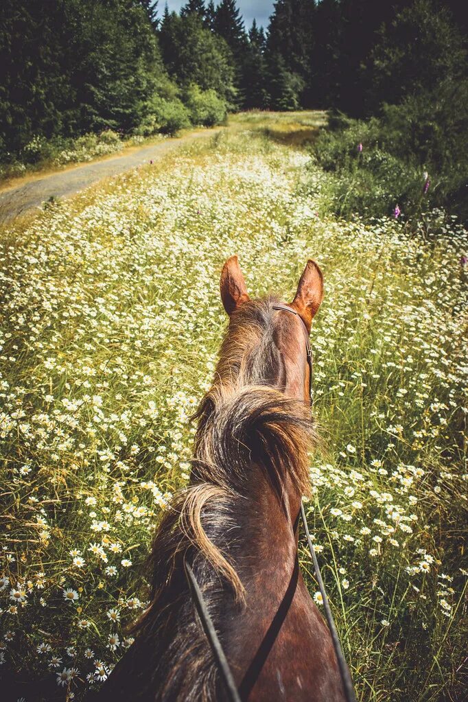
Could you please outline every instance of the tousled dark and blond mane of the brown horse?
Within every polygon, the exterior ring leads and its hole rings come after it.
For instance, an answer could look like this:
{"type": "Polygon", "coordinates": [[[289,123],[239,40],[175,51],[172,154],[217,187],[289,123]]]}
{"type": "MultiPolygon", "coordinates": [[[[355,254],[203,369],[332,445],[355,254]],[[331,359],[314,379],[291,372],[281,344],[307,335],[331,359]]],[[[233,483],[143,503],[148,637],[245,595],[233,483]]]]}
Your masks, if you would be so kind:
{"type": "Polygon", "coordinates": [[[185,561],[219,624],[226,597],[243,607],[236,569],[239,517],[248,511],[253,470],[263,472],[280,501],[286,474],[297,494],[309,492],[308,456],[316,432],[309,405],[281,390],[286,369],[275,343],[275,302],[273,297],[249,300],[232,314],[213,386],[194,415],[192,477],[175,494],[156,531],[146,567],[152,574],[150,604],[133,628],[133,659],[128,651],[107,681],[120,668],[114,690],[122,677],[131,677],[135,700],[222,698],[218,670],[196,620],[185,561]],[[145,673],[135,674],[137,668],[145,673]],[[138,696],[141,686],[146,692],[138,696]]]}

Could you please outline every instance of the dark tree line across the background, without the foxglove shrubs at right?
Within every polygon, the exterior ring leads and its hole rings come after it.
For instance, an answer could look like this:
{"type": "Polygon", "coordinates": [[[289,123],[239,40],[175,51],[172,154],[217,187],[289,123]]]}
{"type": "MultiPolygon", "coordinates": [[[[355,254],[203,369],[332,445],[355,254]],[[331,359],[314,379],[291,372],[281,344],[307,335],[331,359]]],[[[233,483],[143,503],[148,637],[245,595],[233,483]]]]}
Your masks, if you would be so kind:
{"type": "Polygon", "coordinates": [[[266,31],[246,29],[236,0],[162,16],[154,0],[2,0],[0,151],[213,124],[226,109],[369,117],[415,95],[439,112],[450,100],[456,121],[466,37],[457,0],[277,0],[266,31]]]}

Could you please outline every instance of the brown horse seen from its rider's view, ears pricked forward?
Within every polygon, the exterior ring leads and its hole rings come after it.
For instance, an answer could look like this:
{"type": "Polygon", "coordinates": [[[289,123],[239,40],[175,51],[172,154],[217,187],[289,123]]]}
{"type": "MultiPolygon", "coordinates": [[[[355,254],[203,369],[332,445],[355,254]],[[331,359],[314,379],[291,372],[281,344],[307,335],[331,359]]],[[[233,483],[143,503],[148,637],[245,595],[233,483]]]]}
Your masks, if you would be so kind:
{"type": "Polygon", "coordinates": [[[241,700],[345,702],[330,633],[297,557],[318,440],[306,356],[323,275],[309,260],[292,303],[252,300],[232,256],[220,292],[229,324],[195,414],[189,485],[163,514],[147,563],[149,607],[97,699],[228,699],[196,614],[189,564],[241,700]]]}

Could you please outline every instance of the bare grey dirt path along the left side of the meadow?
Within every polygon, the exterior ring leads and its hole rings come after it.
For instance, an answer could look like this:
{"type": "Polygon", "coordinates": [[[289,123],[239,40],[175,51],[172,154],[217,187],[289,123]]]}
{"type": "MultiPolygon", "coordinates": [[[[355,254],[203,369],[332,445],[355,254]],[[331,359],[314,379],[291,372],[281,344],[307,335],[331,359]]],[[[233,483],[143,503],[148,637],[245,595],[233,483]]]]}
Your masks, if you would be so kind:
{"type": "Polygon", "coordinates": [[[161,159],[165,154],[177,149],[193,139],[207,138],[220,131],[220,128],[203,129],[182,136],[179,139],[168,139],[163,143],[144,146],[130,153],[95,161],[91,164],[76,166],[68,171],[57,171],[43,178],[31,178],[10,190],[0,192],[0,223],[11,222],[20,215],[40,207],[51,197],[67,197],[78,190],[88,187],[102,178],[116,176],[118,173],[136,168],[149,161],[161,159]]]}

